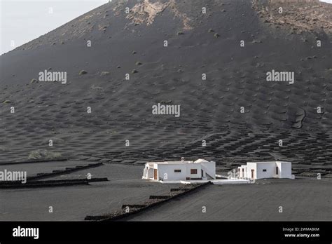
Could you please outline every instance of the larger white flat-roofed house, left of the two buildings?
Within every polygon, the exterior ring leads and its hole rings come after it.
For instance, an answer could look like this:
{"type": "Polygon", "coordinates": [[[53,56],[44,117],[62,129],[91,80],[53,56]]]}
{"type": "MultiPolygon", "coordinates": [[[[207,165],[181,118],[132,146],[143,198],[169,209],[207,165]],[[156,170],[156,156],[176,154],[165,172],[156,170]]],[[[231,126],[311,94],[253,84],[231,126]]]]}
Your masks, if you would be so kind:
{"type": "Polygon", "coordinates": [[[142,178],[165,183],[216,179],[216,162],[204,159],[148,162],[145,164],[142,178]]]}

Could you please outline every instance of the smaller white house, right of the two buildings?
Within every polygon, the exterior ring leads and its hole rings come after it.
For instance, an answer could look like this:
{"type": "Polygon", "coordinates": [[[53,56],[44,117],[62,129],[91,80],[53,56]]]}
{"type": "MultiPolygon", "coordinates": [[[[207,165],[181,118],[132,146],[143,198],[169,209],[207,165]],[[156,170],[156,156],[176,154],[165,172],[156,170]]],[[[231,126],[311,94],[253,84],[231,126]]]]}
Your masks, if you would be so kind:
{"type": "Polygon", "coordinates": [[[291,175],[291,162],[247,162],[247,165],[241,165],[237,170],[240,179],[295,178],[291,175]]]}

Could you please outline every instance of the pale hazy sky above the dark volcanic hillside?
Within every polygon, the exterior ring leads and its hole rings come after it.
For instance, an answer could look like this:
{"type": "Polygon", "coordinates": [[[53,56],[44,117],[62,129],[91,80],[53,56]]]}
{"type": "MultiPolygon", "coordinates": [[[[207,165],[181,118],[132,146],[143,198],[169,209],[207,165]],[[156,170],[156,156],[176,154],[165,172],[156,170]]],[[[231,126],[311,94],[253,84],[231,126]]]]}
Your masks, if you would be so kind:
{"type": "MultiPolygon", "coordinates": [[[[324,1],[332,4],[332,0],[324,1]]],[[[108,0],[0,0],[0,54],[106,2],[108,0]]]]}

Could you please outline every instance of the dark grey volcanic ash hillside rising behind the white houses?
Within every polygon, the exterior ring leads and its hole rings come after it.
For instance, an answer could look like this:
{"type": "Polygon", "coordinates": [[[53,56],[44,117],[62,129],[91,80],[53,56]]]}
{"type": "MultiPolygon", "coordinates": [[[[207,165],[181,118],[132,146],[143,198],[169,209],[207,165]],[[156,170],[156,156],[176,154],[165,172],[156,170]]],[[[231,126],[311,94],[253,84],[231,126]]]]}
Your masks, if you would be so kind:
{"type": "Polygon", "coordinates": [[[1,55],[1,161],[36,149],[62,155],[172,149],[226,131],[234,135],[220,142],[227,150],[191,155],[242,151],[246,160],[266,146],[271,156],[279,137],[293,134],[294,147],[306,151],[298,133],[308,139],[323,132],[324,144],[331,143],[331,34],[272,25],[257,8],[241,0],[113,1],[1,55]],[[45,69],[67,72],[67,84],[38,81],[45,69]],[[266,81],[272,69],[294,72],[295,83],[266,81]],[[181,105],[181,116],[153,115],[158,102],[181,105]]]}

